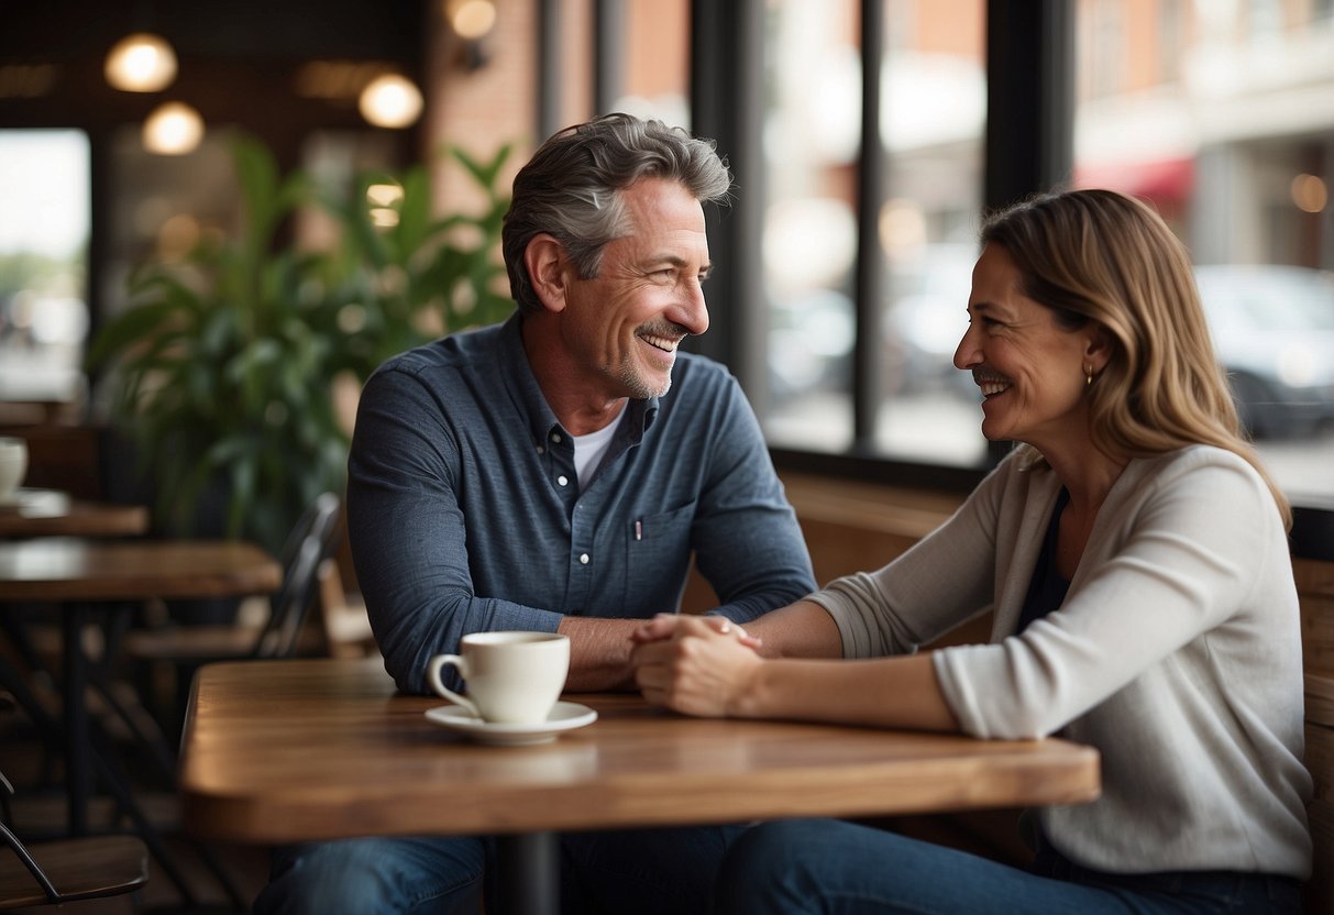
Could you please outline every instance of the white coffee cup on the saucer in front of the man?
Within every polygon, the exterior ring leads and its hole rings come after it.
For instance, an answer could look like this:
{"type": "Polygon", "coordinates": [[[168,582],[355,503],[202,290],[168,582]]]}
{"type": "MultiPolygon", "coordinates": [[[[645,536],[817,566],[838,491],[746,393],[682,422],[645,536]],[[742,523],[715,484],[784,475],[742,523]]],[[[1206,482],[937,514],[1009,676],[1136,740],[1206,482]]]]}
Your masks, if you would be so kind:
{"type": "Polygon", "coordinates": [[[492,724],[540,724],[560,698],[570,672],[570,638],[559,632],[474,632],[458,655],[436,655],[427,682],[442,696],[492,724]],[[440,680],[446,664],[459,668],[467,698],[440,680]]]}

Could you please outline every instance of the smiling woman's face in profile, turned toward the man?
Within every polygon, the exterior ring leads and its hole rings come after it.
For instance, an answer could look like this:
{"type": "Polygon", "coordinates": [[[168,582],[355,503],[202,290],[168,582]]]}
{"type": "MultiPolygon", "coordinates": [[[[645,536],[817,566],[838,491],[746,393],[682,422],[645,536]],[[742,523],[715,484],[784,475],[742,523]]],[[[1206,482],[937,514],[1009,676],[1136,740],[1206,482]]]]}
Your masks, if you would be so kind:
{"type": "Polygon", "coordinates": [[[1062,328],[1019,285],[1010,253],[983,248],[972,268],[968,329],[954,352],[955,368],[972,372],[982,389],[982,433],[1043,452],[1087,441],[1086,377],[1103,364],[1093,325],[1062,328]]]}

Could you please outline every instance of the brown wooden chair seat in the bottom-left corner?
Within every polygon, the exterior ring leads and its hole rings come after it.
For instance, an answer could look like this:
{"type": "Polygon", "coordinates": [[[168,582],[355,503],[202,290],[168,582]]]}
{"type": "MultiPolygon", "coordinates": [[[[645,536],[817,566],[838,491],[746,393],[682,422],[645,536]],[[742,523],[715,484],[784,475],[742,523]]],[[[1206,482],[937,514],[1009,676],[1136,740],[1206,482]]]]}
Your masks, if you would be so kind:
{"type": "MultiPolygon", "coordinates": [[[[60,894],[55,902],[131,892],[148,882],[148,850],[128,835],[83,836],[28,846],[60,894]]],[[[0,848],[0,908],[45,906],[53,900],[9,848],[0,848]]]]}

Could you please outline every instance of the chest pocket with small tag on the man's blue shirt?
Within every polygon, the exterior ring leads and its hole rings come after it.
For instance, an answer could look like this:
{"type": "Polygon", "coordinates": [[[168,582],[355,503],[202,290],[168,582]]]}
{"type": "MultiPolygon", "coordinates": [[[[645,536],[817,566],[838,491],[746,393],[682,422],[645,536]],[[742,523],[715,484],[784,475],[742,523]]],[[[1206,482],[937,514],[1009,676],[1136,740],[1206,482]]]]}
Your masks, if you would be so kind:
{"type": "Polygon", "coordinates": [[[630,616],[676,610],[690,571],[690,530],[695,503],[636,518],[626,528],[626,595],[630,616]]]}

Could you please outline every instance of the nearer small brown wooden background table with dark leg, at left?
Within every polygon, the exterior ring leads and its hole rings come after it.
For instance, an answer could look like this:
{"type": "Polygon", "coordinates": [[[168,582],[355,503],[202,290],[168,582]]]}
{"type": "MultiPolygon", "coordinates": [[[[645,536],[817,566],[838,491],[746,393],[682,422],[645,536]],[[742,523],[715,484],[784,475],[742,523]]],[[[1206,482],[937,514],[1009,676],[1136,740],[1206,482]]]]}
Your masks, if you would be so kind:
{"type": "Polygon", "coordinates": [[[87,831],[91,782],[87,659],[89,606],[151,598],[231,598],[269,594],[279,563],[256,546],[217,540],[85,540],[39,538],[0,543],[0,612],[5,606],[60,606],[69,831],[87,831]]]}

